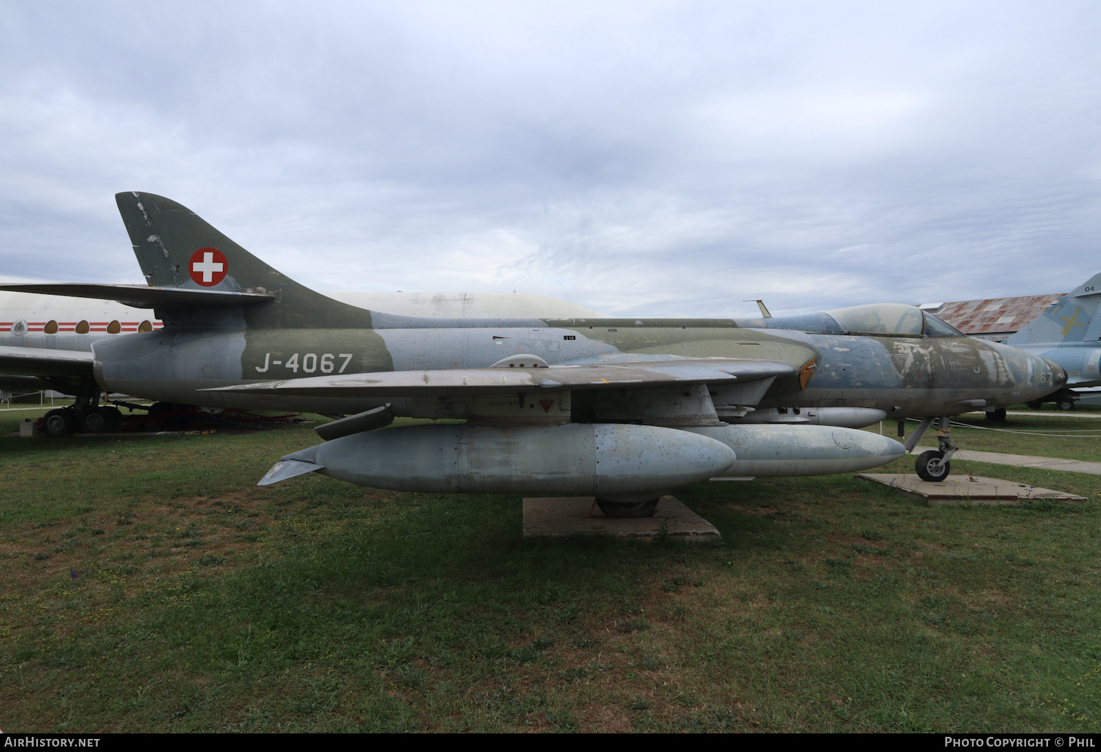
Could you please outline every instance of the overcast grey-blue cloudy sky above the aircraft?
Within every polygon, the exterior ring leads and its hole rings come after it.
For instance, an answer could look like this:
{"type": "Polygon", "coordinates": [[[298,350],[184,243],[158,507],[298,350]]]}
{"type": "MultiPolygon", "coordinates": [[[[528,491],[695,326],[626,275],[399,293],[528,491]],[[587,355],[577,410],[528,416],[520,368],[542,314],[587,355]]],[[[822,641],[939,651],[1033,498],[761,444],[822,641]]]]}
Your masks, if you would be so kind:
{"type": "Polygon", "coordinates": [[[318,290],[729,316],[1101,271],[1095,2],[0,3],[0,274],[119,190],[318,290]]]}

